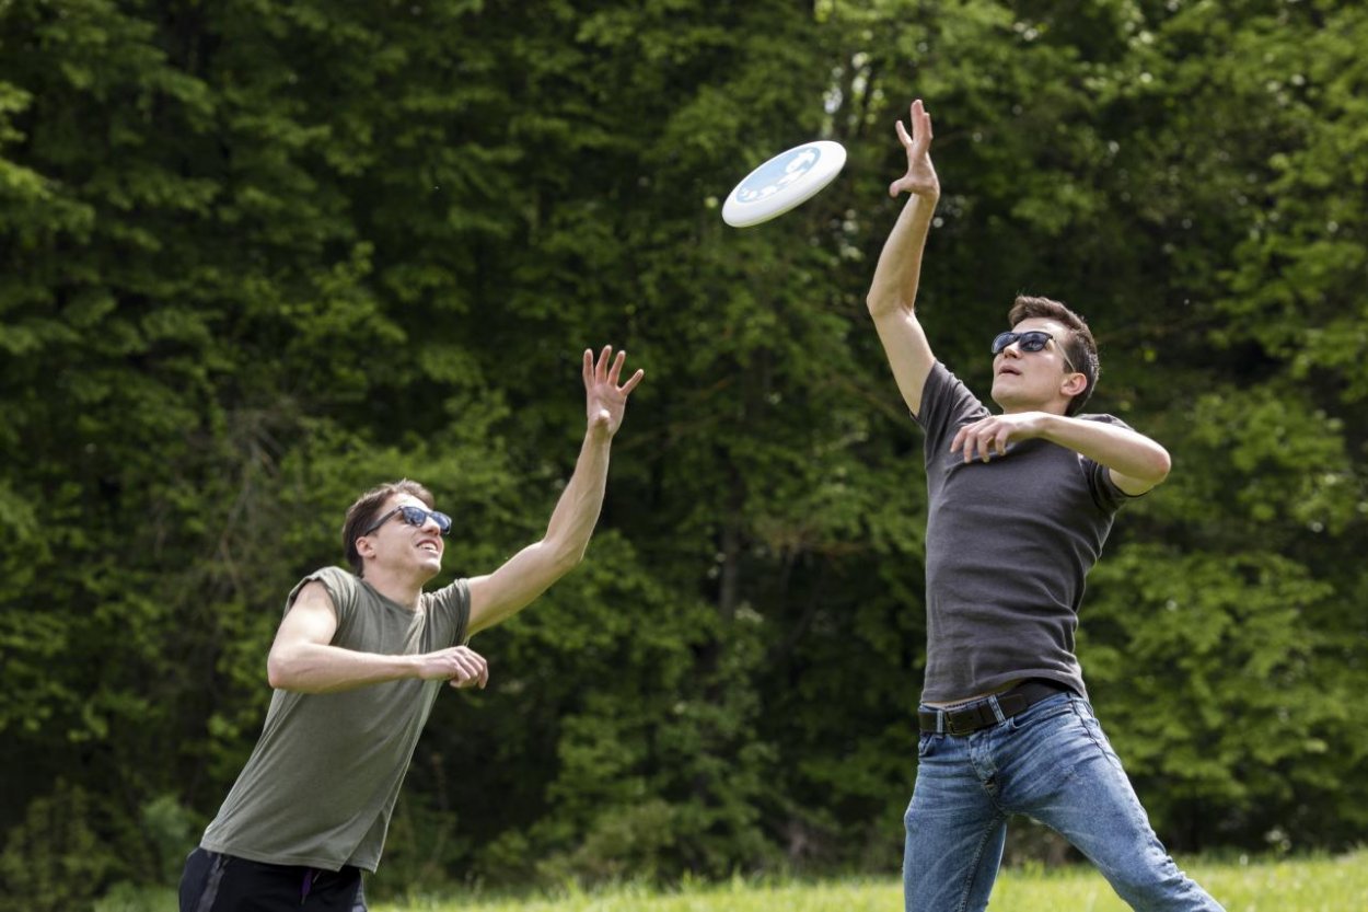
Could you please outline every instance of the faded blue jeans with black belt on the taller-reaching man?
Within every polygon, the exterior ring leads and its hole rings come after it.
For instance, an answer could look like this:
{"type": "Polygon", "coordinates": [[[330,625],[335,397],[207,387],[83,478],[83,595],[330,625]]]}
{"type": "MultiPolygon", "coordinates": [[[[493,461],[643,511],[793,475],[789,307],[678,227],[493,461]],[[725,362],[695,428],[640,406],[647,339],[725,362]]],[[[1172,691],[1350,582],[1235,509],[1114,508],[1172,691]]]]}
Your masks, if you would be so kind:
{"type": "Polygon", "coordinates": [[[1222,911],[1159,842],[1082,697],[1047,697],[970,735],[923,733],[918,756],[904,819],[907,912],[985,909],[1014,813],[1060,833],[1138,912],[1222,911]]]}

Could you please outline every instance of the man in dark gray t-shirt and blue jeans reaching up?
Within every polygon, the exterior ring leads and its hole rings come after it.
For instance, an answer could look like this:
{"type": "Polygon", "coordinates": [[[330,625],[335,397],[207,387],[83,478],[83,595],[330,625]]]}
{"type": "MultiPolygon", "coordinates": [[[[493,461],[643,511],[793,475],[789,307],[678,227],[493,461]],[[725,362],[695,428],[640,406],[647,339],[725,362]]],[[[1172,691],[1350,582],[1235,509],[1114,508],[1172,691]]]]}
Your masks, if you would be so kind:
{"type": "Polygon", "coordinates": [[[926,681],[903,859],[908,912],[984,909],[1011,815],[1057,830],[1134,909],[1222,907],[1174,864],[1088,702],[1074,656],[1083,579],[1127,497],[1168,453],[1108,415],[1079,415],[1097,382],[1088,325],[1019,297],[990,345],[993,415],[932,353],[914,314],[940,181],[918,100],[897,123],[910,200],[869,311],[897,388],[926,431],[926,681]]]}

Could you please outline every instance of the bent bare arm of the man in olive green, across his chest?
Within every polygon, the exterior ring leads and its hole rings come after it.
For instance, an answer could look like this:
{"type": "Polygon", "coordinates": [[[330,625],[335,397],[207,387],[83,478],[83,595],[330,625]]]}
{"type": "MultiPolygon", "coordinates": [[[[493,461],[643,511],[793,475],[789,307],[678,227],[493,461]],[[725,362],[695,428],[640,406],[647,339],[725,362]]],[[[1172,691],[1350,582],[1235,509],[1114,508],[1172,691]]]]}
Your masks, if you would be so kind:
{"type": "Polygon", "coordinates": [[[338,619],[323,583],[305,583],[275,633],[267,679],[279,690],[337,693],[402,678],[450,681],[453,687],[488,682],[484,659],[468,646],[417,656],[386,656],[334,646],[338,619]]]}

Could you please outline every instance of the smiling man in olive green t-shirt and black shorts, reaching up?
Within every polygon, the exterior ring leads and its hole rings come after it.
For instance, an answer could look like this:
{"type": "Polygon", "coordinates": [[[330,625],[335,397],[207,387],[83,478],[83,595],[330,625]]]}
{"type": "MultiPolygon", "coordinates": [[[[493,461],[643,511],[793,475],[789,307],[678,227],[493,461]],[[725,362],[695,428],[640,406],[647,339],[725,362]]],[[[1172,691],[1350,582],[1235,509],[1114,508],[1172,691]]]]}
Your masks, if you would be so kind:
{"type": "Polygon", "coordinates": [[[442,570],[451,519],[399,481],[347,511],[353,572],[326,567],[286,600],[267,660],[275,694],[237,783],[186,860],[181,912],[364,912],[419,735],[442,683],[483,687],[465,644],[512,616],[584,556],[607,483],[609,451],[636,371],[625,352],[584,352],[588,427],[546,535],[484,577],[424,593],[442,570]]]}

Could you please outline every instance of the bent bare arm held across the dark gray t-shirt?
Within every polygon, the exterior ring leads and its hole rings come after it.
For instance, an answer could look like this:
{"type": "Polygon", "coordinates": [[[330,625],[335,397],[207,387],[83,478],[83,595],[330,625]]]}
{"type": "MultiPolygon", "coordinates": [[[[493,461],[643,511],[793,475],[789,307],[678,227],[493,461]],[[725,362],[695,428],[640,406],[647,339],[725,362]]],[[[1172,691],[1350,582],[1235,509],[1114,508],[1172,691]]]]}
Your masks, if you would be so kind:
{"type": "Polygon", "coordinates": [[[1138,431],[1104,422],[1066,418],[1051,412],[992,415],[966,425],[951,441],[951,452],[964,452],[964,461],[1005,455],[1007,445],[1041,437],[1105,466],[1127,494],[1144,494],[1168,478],[1168,451],[1138,431]]]}

